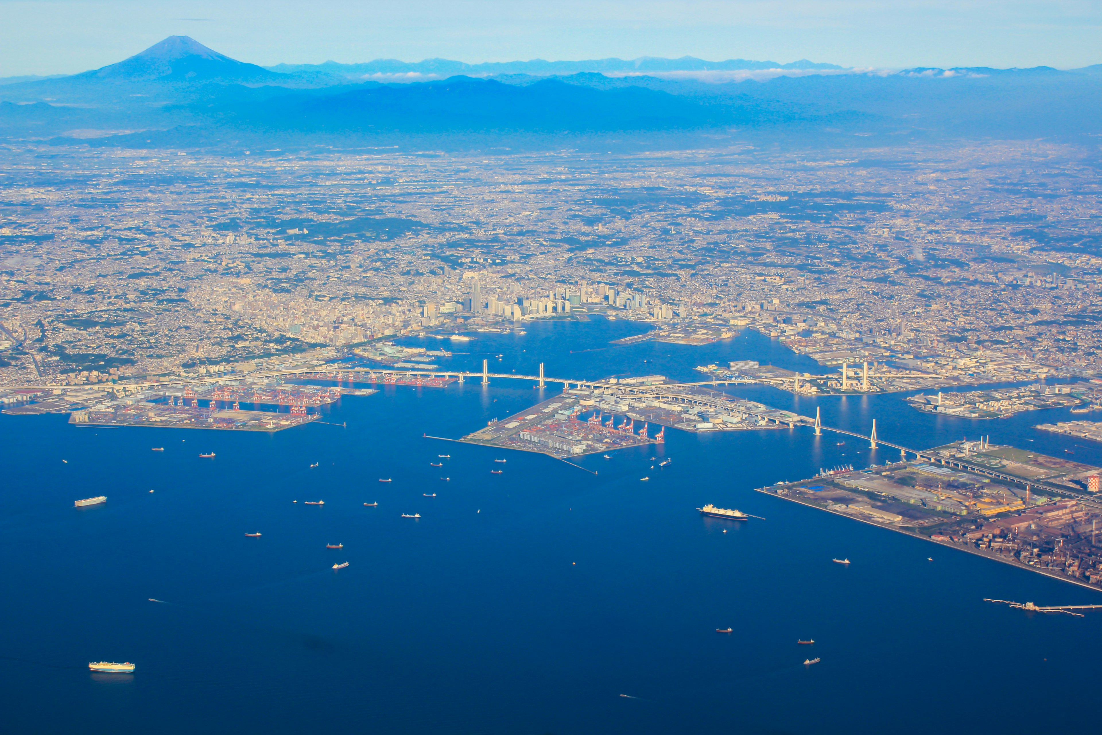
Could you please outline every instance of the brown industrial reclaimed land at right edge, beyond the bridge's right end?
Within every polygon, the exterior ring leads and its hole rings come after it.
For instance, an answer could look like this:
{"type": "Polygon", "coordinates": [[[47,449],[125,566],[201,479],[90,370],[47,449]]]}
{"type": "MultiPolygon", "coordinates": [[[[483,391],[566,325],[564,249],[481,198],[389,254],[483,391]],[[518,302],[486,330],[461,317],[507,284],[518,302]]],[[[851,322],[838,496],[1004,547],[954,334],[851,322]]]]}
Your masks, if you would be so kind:
{"type": "Polygon", "coordinates": [[[824,471],[756,489],[1102,591],[1102,498],[1093,497],[1100,474],[1099,467],[975,442],[928,450],[912,462],[824,471]],[[964,452],[972,462],[980,455],[974,467],[941,463],[964,452]],[[1000,482],[985,469],[996,462],[1000,482]],[[1060,480],[1066,490],[1054,484],[1060,480]]]}

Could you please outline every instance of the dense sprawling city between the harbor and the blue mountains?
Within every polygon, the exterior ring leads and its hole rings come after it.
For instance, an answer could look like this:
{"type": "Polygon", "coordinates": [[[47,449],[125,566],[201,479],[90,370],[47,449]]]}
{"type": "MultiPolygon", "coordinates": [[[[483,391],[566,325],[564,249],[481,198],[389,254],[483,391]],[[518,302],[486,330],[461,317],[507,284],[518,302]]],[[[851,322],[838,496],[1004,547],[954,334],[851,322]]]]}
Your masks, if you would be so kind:
{"type": "Polygon", "coordinates": [[[580,311],[758,328],[835,372],[872,363],[876,390],[1100,366],[1100,188],[1057,145],[6,154],[7,387],[248,371],[580,311]]]}

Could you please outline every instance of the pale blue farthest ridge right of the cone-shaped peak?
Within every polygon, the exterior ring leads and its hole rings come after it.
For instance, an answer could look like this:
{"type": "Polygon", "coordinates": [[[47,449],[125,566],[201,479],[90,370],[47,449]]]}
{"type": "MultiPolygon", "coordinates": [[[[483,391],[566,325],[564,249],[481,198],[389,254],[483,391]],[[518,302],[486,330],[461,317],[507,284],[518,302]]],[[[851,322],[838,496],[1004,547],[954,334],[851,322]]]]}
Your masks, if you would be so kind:
{"type": "Polygon", "coordinates": [[[798,71],[841,71],[836,64],[821,64],[801,58],[798,62],[780,64],[778,62],[755,62],[745,58],[730,58],[722,62],[709,62],[693,56],[681,58],[661,58],[641,56],[634,60],[597,58],[588,61],[548,62],[542,58],[516,62],[487,62],[483,64],[466,64],[447,58],[426,58],[420,62],[401,62],[396,58],[376,58],[359,64],[339,64],[325,62],[323,64],[277,64],[266,67],[268,71],[281,74],[321,73],[332,76],[364,77],[374,74],[421,74],[436,76],[493,76],[497,74],[534,74],[547,76],[551,74],[577,74],[580,72],[701,72],[701,71],[760,71],[760,69],[798,69],[798,71]]]}

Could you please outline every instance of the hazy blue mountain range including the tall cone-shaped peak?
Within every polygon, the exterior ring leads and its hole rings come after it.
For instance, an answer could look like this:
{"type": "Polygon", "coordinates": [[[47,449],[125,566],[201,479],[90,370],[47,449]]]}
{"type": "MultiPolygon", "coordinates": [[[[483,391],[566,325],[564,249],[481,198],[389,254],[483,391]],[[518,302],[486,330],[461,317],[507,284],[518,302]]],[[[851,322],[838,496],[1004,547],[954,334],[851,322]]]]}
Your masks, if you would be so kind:
{"type": "Polygon", "coordinates": [[[676,140],[696,131],[714,139],[856,136],[884,144],[947,136],[1087,141],[1102,133],[1102,65],[1070,72],[1041,66],[868,73],[808,61],[684,56],[495,64],[378,60],[264,68],[187,36],[170,36],[99,69],[0,79],[0,137],[9,139],[107,136],[115,144],[203,144],[225,139],[227,131],[331,140],[644,131],[669,132],[676,140]],[[773,69],[784,74],[724,83],[699,76],[773,69]],[[112,134],[132,130],[162,132],[112,134]],[[176,132],[163,132],[170,130],[176,132]]]}

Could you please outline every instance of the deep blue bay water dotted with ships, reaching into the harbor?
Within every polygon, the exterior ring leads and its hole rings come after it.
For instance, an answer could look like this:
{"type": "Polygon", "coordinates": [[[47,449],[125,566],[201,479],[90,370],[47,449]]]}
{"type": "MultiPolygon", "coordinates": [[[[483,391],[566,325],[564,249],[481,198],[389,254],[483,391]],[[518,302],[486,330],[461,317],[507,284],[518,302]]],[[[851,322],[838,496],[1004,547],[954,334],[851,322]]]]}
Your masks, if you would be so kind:
{"type": "MultiPolygon", "coordinates": [[[[456,350],[440,361],[449,369],[480,370],[488,358],[491,371],[531,375],[543,361],[549,377],[572,379],[695,380],[693,366],[733,359],[820,369],[750,331],[704,347],[609,345],[647,328],[594,318],[403,342],[456,350]]],[[[1098,726],[1102,612],[1029,615],[983,598],[1095,604],[1102,594],[754,491],[822,466],[884,463],[894,450],[808,429],[670,429],[657,448],[579,461],[592,474],[423,436],[457,439],[561,389],[393,387],[344,397],[326,409],[328,424],[272,435],[0,415],[3,731],[1098,726]],[[207,452],[216,458],[198,457],[207,452]],[[73,507],[96,495],[107,504],[73,507]],[[766,520],[703,518],[706,502],[766,520]],[[803,667],[809,655],[822,662],[803,667]],[[137,671],[89,673],[98,660],[137,671]]],[[[824,423],[865,433],[875,418],[882,439],[918,448],[990,434],[1102,465],[1102,445],[1033,429],[1068,420],[1067,409],[970,421],[919,413],[900,394],[732,392],[804,415],[819,406],[824,423]]]]}

